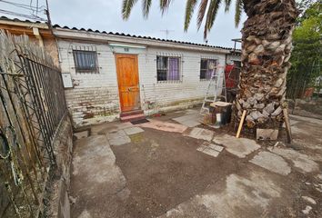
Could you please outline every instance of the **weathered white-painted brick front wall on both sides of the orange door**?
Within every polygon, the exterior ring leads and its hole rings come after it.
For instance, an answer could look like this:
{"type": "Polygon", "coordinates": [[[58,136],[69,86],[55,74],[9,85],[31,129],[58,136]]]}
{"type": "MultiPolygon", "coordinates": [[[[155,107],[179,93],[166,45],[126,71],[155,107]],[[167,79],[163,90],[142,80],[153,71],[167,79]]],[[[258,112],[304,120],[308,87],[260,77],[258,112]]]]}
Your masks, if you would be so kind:
{"type": "MultiPolygon", "coordinates": [[[[76,126],[96,124],[119,116],[116,61],[107,44],[76,43],[59,40],[63,73],[70,73],[74,88],[65,90],[66,101],[76,126]],[[96,49],[99,74],[76,74],[73,47],[88,46],[96,49]]],[[[131,51],[130,51],[131,52],[131,51]]],[[[201,103],[208,82],[200,81],[200,59],[216,58],[225,64],[225,54],[194,52],[188,50],[147,47],[138,54],[138,71],[142,109],[156,113],[166,108],[180,108],[201,103]],[[182,81],[158,83],[156,81],[156,55],[180,55],[182,81]]]]}

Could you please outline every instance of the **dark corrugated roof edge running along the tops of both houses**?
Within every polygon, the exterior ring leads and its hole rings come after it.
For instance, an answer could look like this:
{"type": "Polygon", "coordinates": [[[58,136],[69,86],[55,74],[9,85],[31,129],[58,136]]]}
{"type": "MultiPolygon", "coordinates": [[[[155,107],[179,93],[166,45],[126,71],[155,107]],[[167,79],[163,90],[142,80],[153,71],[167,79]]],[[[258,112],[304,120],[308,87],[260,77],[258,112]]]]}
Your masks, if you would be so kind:
{"type": "MultiPolygon", "coordinates": [[[[45,24],[41,23],[39,21],[32,22],[30,20],[19,20],[17,18],[10,19],[5,16],[1,16],[0,20],[6,20],[6,21],[14,21],[14,22],[24,22],[24,23],[34,23],[34,24],[45,24]]],[[[150,36],[142,36],[142,35],[126,35],[124,33],[113,33],[113,32],[106,32],[106,31],[99,31],[99,30],[92,30],[92,29],[85,29],[85,28],[76,28],[76,27],[69,27],[69,26],[60,26],[60,25],[53,25],[53,28],[55,30],[70,30],[70,31],[77,31],[77,32],[85,32],[85,33],[93,33],[93,34],[100,34],[100,35],[110,35],[110,36],[121,36],[126,38],[135,38],[135,39],[143,39],[148,41],[154,41],[154,42],[164,42],[169,44],[177,44],[177,45],[187,45],[187,46],[197,46],[197,47],[204,47],[209,49],[218,49],[218,50],[226,50],[228,53],[233,54],[240,54],[240,49],[233,49],[229,47],[223,47],[223,46],[216,46],[216,45],[206,45],[206,44],[196,44],[191,42],[183,42],[183,41],[176,41],[176,40],[169,40],[169,39],[161,39],[156,37],[150,37],[150,36]]]]}

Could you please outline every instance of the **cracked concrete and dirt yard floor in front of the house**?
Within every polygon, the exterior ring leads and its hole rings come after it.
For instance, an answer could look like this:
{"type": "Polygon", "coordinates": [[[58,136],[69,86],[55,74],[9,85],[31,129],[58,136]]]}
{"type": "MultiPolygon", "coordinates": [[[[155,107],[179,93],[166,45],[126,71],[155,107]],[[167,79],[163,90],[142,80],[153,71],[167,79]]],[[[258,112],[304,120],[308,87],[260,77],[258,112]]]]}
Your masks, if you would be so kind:
{"type": "Polygon", "coordinates": [[[200,137],[203,126],[176,122],[190,114],[96,125],[76,140],[72,217],[322,217],[321,120],[292,116],[293,149],[200,137]],[[216,155],[200,149],[209,141],[216,155]]]}

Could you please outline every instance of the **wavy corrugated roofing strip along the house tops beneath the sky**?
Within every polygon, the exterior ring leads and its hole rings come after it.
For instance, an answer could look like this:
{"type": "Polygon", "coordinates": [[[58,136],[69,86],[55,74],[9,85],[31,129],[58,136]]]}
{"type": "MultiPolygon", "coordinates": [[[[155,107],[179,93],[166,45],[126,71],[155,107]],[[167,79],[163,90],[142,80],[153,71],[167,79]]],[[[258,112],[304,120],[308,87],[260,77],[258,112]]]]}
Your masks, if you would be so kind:
{"type": "MultiPolygon", "coordinates": [[[[10,19],[6,16],[0,16],[0,20],[8,20],[8,21],[15,21],[15,22],[25,22],[25,23],[35,23],[35,24],[41,24],[41,22],[36,21],[30,21],[30,20],[19,20],[17,18],[10,19]]],[[[42,23],[44,24],[44,23],[42,23]]],[[[53,25],[55,29],[61,28],[61,29],[68,29],[68,30],[76,30],[76,31],[84,31],[89,33],[96,33],[96,34],[105,34],[105,35],[120,35],[120,36],[126,36],[126,37],[132,37],[132,38],[140,38],[140,39],[149,39],[149,40],[155,40],[159,42],[168,42],[168,43],[176,43],[181,45],[196,45],[196,46],[202,46],[202,47],[210,47],[210,48],[219,48],[219,49],[225,49],[231,52],[234,52],[233,48],[229,47],[223,47],[223,46],[216,46],[216,45],[206,45],[206,44],[196,44],[191,42],[184,42],[184,41],[176,41],[176,40],[170,40],[170,39],[162,39],[162,38],[156,38],[151,36],[143,36],[143,35],[129,35],[124,33],[113,33],[113,32],[106,32],[106,31],[99,31],[99,30],[92,30],[92,29],[85,29],[85,28],[76,28],[76,27],[69,27],[69,26],[60,26],[60,25],[53,25]]],[[[240,52],[240,49],[235,50],[236,53],[240,52]]]]}

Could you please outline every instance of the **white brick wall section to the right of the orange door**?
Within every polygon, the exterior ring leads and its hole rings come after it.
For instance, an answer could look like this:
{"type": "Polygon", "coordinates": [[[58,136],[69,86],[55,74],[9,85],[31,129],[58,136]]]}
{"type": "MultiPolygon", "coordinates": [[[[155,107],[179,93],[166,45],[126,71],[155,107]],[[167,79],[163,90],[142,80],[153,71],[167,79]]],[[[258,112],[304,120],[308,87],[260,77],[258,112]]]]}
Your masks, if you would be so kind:
{"type": "MultiPolygon", "coordinates": [[[[139,75],[141,100],[151,102],[150,109],[156,112],[168,106],[184,106],[200,103],[205,97],[208,82],[199,78],[201,58],[217,59],[219,65],[225,64],[225,54],[206,54],[184,50],[165,50],[162,48],[146,49],[146,54],[139,55],[139,75]],[[156,55],[179,55],[181,57],[180,82],[157,82],[156,55]],[[144,87],[143,87],[144,86],[144,87]]],[[[145,110],[146,104],[142,104],[145,110]]]]}

